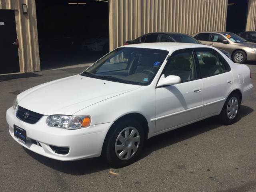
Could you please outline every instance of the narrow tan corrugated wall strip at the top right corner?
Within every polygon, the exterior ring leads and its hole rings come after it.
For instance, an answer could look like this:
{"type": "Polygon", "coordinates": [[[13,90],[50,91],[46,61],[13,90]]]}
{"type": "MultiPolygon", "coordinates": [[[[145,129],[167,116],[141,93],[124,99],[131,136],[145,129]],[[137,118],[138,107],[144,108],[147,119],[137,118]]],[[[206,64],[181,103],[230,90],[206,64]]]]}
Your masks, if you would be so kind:
{"type": "Polygon", "coordinates": [[[255,31],[256,0],[248,0],[246,31],[255,31]]]}

